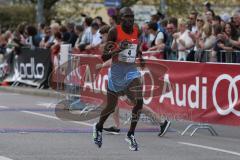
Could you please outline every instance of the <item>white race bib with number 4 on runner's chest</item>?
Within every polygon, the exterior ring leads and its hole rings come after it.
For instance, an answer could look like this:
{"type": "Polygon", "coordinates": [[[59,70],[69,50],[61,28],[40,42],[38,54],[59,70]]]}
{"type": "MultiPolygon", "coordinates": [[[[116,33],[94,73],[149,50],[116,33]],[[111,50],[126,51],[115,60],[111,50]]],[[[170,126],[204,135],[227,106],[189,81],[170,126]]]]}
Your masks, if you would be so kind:
{"type": "Polygon", "coordinates": [[[118,54],[120,62],[134,63],[137,56],[137,44],[129,44],[128,48],[118,54]]]}

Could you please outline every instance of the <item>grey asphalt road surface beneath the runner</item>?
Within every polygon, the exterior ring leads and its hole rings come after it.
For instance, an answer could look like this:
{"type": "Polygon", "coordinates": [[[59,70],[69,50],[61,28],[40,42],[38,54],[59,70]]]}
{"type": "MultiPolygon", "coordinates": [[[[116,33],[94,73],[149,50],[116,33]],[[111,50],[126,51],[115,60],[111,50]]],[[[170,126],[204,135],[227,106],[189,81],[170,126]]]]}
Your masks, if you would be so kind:
{"type": "MultiPolygon", "coordinates": [[[[213,126],[219,136],[200,131],[181,136],[188,122],[174,121],[170,132],[158,137],[156,127],[141,122],[137,132],[138,152],[129,151],[124,137],[103,135],[98,149],[86,122],[63,121],[54,114],[60,99],[0,91],[0,160],[238,160],[240,129],[213,126]]],[[[110,119],[107,125],[112,123],[110,119]]],[[[123,126],[126,128],[127,126],[123,126]]],[[[124,129],[123,129],[124,130],[124,129]]]]}

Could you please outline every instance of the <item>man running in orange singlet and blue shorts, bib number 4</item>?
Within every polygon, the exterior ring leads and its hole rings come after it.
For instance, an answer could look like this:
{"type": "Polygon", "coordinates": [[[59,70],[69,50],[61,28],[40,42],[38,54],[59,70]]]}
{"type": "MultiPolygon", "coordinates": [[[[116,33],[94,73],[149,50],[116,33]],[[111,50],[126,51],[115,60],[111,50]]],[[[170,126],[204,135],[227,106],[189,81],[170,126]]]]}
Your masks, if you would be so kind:
{"type": "MultiPolygon", "coordinates": [[[[116,52],[104,52],[102,59],[107,61],[112,58],[111,70],[108,74],[107,106],[100,115],[99,122],[93,126],[93,140],[98,146],[102,146],[102,129],[104,122],[114,112],[118,96],[127,95],[134,102],[130,129],[125,140],[129,143],[130,150],[137,151],[138,144],[134,137],[134,131],[143,107],[141,74],[135,64],[138,56],[139,29],[134,25],[134,14],[128,7],[120,10],[120,25],[109,31],[108,41],[121,44],[124,41],[131,42],[128,48],[116,52]]],[[[140,55],[141,56],[141,55],[140,55]]]]}

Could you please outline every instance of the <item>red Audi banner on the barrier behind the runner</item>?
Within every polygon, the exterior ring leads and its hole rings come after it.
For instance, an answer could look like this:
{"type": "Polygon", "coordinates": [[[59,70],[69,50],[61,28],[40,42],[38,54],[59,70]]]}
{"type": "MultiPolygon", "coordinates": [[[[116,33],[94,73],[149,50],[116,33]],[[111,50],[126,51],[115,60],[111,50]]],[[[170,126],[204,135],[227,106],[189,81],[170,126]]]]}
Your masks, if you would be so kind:
{"type": "MultiPolygon", "coordinates": [[[[93,59],[85,61],[96,64],[93,59]]],[[[96,62],[99,63],[99,59],[96,62]]],[[[161,60],[147,60],[146,64],[149,64],[148,70],[145,67],[141,71],[145,79],[144,104],[159,115],[202,123],[240,125],[240,65],[161,60]]],[[[79,77],[83,87],[81,95],[105,99],[108,70],[105,68],[97,73],[91,65],[82,67],[79,77]]],[[[118,105],[129,108],[121,99],[118,105]]]]}

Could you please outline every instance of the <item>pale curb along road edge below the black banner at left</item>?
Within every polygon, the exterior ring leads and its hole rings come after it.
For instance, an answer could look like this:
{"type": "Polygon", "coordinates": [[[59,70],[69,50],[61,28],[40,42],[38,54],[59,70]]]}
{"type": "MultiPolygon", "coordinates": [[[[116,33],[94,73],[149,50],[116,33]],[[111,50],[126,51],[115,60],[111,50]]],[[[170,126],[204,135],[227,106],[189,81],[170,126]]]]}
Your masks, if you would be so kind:
{"type": "Polygon", "coordinates": [[[64,97],[62,94],[56,91],[53,91],[51,89],[44,90],[44,89],[27,88],[27,87],[24,88],[24,87],[0,86],[0,91],[26,94],[26,95],[32,95],[32,96],[52,97],[52,98],[64,97]]]}

